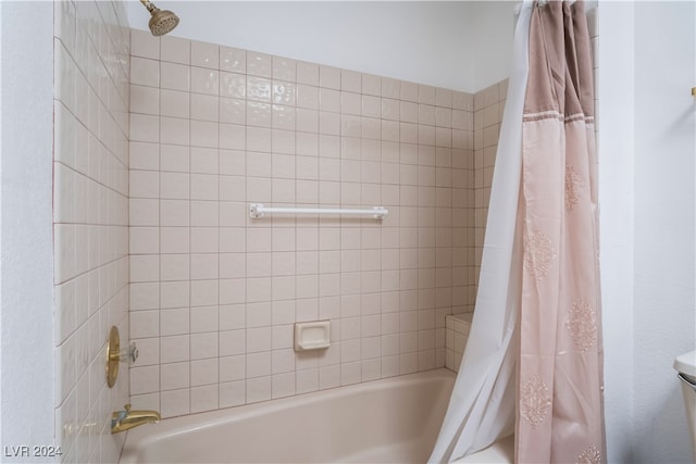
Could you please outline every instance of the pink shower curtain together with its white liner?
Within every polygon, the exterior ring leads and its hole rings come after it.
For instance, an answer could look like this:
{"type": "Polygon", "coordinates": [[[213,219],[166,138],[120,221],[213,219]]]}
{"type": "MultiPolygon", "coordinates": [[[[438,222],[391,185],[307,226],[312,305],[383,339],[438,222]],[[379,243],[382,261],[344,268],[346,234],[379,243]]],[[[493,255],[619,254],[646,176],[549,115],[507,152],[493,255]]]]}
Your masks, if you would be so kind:
{"type": "Polygon", "coordinates": [[[474,319],[431,462],[513,430],[515,462],[606,460],[592,74],[583,2],[524,2],[474,319]]]}

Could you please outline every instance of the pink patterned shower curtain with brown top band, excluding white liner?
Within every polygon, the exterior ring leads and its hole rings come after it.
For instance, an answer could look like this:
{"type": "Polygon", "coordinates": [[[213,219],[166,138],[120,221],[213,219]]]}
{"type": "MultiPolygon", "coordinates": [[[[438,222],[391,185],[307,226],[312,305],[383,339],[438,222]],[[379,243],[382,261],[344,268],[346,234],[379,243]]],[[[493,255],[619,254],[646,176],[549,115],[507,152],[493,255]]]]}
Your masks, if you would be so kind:
{"type": "Polygon", "coordinates": [[[606,461],[591,41],[582,1],[534,5],[522,125],[515,460],[606,461]]]}

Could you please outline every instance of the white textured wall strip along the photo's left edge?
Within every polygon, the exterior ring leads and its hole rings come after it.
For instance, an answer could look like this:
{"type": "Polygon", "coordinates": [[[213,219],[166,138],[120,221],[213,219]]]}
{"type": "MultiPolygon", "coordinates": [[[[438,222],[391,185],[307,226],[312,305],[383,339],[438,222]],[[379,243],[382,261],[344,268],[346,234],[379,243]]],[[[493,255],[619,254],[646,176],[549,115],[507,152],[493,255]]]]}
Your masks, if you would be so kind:
{"type": "MultiPolygon", "coordinates": [[[[53,4],[3,2],[1,13],[0,449],[4,455],[4,447],[55,443],[51,227],[53,4]],[[27,24],[32,27],[26,27],[27,24]]],[[[22,459],[32,461],[51,462],[42,457],[22,459]]]]}

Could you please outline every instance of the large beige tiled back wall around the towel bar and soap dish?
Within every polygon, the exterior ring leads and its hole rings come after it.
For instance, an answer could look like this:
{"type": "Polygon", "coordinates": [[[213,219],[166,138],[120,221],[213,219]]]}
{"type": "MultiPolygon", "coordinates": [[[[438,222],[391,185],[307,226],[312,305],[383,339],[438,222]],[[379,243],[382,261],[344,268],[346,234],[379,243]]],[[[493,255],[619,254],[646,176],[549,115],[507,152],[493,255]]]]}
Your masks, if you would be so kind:
{"type": "Polygon", "coordinates": [[[132,35],[130,368],[164,416],[444,366],[474,291],[471,95],[132,35]],[[268,216],[266,205],[389,210],[268,216]],[[295,353],[293,324],[331,319],[295,353]]]}

